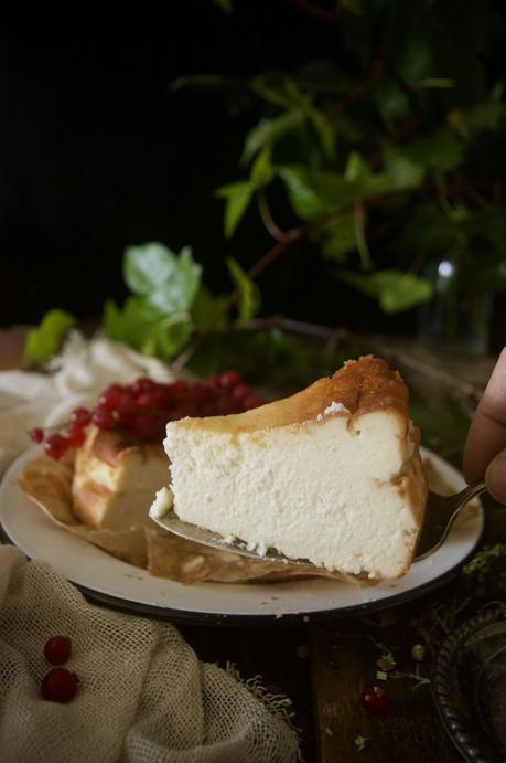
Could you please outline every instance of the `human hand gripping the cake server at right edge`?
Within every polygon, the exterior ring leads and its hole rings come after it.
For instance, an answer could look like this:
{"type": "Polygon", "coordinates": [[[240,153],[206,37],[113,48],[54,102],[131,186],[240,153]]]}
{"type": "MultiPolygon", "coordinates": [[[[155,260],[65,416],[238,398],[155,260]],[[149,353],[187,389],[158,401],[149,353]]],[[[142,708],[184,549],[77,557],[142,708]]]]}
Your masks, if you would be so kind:
{"type": "Polygon", "coordinates": [[[474,414],[464,448],[467,483],[485,479],[488,492],[506,504],[506,348],[474,414]]]}

